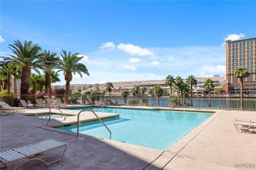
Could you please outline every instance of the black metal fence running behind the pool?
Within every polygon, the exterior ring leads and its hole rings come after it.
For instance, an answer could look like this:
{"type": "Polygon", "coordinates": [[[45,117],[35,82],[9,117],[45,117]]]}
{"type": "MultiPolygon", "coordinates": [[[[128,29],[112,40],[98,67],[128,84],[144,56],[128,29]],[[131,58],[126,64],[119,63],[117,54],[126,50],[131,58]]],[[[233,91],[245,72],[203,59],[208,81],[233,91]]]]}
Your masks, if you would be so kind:
{"type": "MultiPolygon", "coordinates": [[[[2,95],[0,101],[8,103],[12,107],[20,105],[19,99],[25,99],[28,104],[34,104],[36,101],[45,101],[49,96],[36,95],[2,95]]],[[[64,103],[64,95],[51,95],[51,100],[56,102],[56,98],[60,98],[64,103]]],[[[228,109],[240,110],[239,95],[216,95],[209,98],[206,97],[178,97],[176,95],[164,95],[162,97],[143,96],[134,97],[129,95],[121,97],[120,95],[69,95],[70,104],[96,104],[96,105],[134,105],[134,106],[152,106],[152,107],[186,107],[196,109],[228,109]]],[[[244,110],[256,111],[256,95],[244,96],[244,110]]]]}

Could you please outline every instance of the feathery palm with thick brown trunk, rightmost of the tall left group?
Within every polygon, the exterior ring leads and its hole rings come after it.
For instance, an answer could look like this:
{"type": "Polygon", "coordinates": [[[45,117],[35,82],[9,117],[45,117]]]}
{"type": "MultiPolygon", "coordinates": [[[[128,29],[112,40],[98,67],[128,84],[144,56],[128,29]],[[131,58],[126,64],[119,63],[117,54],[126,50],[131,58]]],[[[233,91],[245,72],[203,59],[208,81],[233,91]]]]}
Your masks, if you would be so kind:
{"type": "Polygon", "coordinates": [[[67,53],[66,50],[63,49],[62,53],[60,53],[62,60],[60,61],[60,64],[57,65],[57,69],[60,69],[60,71],[64,72],[64,78],[66,80],[64,103],[69,103],[68,96],[70,93],[70,81],[72,81],[73,77],[72,73],[74,73],[74,75],[78,73],[82,78],[82,73],[89,76],[89,72],[84,64],[78,63],[82,58],[84,58],[83,56],[78,57],[77,55],[79,55],[79,53],[71,54],[70,51],[67,53]]]}

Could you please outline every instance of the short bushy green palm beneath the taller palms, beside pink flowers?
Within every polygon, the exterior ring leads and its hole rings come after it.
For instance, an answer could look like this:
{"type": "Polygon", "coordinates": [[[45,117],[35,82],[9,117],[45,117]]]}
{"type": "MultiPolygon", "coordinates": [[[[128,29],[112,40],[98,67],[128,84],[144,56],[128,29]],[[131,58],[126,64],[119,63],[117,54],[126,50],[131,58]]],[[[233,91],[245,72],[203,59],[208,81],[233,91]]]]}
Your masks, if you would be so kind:
{"type": "Polygon", "coordinates": [[[42,75],[31,74],[31,79],[29,81],[29,86],[32,87],[31,90],[31,103],[36,102],[36,91],[42,91],[44,87],[44,77],[42,75]]]}

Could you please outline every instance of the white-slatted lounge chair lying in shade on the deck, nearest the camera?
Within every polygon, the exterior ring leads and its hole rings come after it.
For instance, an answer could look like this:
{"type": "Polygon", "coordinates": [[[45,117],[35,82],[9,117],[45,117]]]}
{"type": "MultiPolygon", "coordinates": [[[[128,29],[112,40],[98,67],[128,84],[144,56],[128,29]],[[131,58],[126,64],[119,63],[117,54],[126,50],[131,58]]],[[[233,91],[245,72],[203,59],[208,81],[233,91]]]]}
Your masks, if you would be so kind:
{"type": "Polygon", "coordinates": [[[18,166],[16,166],[15,169],[17,169],[20,165],[22,165],[25,162],[28,162],[30,160],[40,160],[46,166],[49,166],[51,164],[54,164],[55,162],[60,162],[62,160],[67,147],[68,147],[68,144],[65,142],[61,142],[61,141],[54,140],[54,139],[48,139],[48,140],[44,140],[42,142],[30,144],[30,145],[23,146],[20,148],[6,150],[4,152],[0,152],[0,162],[5,166],[5,167],[1,167],[1,169],[8,168],[8,166],[7,166],[8,163],[14,162],[16,160],[20,160],[23,158],[26,158],[26,160],[24,162],[18,164],[18,166]],[[40,156],[40,155],[44,154],[44,152],[46,152],[46,151],[49,151],[49,150],[52,150],[55,148],[59,148],[61,146],[66,146],[66,148],[65,148],[61,158],[58,160],[55,160],[50,163],[46,163],[42,159],[34,158],[36,156],[40,156]]]}

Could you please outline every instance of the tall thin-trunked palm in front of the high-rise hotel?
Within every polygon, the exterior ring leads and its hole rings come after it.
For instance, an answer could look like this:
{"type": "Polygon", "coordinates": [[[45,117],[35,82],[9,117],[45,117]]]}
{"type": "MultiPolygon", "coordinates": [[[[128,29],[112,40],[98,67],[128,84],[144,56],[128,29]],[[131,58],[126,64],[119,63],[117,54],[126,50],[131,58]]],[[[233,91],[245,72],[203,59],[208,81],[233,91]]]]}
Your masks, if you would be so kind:
{"type": "Polygon", "coordinates": [[[240,79],[240,92],[241,92],[241,96],[240,96],[240,109],[241,110],[244,109],[244,79],[246,77],[249,77],[249,75],[250,75],[247,72],[247,69],[248,68],[245,68],[245,67],[237,67],[234,70],[234,77],[240,79]]]}

